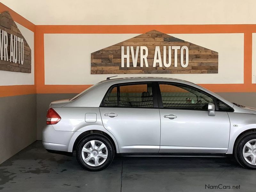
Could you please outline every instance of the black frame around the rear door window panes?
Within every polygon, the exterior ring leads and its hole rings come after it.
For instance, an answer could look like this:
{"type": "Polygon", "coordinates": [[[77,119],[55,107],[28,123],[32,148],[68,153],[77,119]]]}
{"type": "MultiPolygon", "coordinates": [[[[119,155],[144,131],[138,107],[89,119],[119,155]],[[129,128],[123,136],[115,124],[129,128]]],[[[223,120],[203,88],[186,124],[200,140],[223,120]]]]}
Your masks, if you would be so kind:
{"type": "Polygon", "coordinates": [[[108,91],[105,93],[103,99],[101,100],[100,107],[110,107],[110,108],[145,108],[145,109],[152,109],[158,108],[158,100],[157,100],[157,91],[156,91],[157,82],[156,81],[139,81],[139,82],[127,82],[127,83],[117,83],[113,84],[108,88],[108,91]],[[120,94],[120,86],[126,85],[136,85],[136,84],[152,84],[152,94],[153,94],[153,107],[120,107],[119,104],[119,94],[120,94]],[[108,94],[112,91],[112,89],[117,88],[117,106],[105,106],[104,100],[107,98],[108,94]]]}

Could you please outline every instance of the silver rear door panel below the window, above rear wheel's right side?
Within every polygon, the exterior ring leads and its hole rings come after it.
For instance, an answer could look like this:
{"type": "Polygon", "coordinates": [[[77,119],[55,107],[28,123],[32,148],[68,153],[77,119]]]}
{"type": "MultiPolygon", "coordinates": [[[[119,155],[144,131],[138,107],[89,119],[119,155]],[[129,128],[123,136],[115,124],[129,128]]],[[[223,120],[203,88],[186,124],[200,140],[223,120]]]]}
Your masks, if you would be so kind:
{"type": "Polygon", "coordinates": [[[120,153],[158,153],[160,116],[158,108],[100,107],[103,126],[115,135],[120,153]],[[115,113],[117,116],[105,116],[115,113]]]}

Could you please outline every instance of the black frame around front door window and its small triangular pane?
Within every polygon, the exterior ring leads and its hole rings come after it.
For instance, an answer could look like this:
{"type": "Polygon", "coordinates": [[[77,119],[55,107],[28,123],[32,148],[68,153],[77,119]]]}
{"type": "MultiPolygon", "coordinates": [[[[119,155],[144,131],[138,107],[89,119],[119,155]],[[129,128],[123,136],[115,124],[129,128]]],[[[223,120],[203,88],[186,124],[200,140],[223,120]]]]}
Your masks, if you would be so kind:
{"type": "MultiPolygon", "coordinates": [[[[220,100],[220,99],[219,99],[220,101],[222,101],[223,103],[225,103],[226,105],[228,105],[230,108],[232,108],[233,111],[219,110],[218,103],[217,103],[217,99],[218,99],[218,98],[216,98],[215,96],[213,96],[213,95],[210,94],[210,93],[205,92],[204,90],[201,90],[201,89],[199,89],[199,88],[197,88],[197,87],[194,87],[194,86],[188,85],[188,84],[177,83],[177,82],[166,82],[166,81],[157,82],[157,85],[156,85],[157,100],[158,100],[158,106],[159,106],[159,108],[163,108],[163,109],[177,109],[177,108],[164,108],[163,101],[162,101],[161,90],[160,90],[159,84],[169,84],[169,85],[174,85],[174,86],[176,86],[176,85],[181,85],[181,86],[184,86],[184,87],[193,88],[193,89],[195,89],[196,91],[202,92],[202,93],[205,94],[205,95],[211,95],[211,96],[212,96],[213,102],[214,102],[214,105],[215,105],[215,111],[220,111],[220,112],[234,112],[234,109],[233,109],[231,106],[229,106],[227,103],[223,102],[223,101],[220,100]]],[[[184,109],[180,108],[180,110],[208,111],[208,110],[204,110],[204,109],[188,109],[188,108],[184,108],[184,109]]]]}

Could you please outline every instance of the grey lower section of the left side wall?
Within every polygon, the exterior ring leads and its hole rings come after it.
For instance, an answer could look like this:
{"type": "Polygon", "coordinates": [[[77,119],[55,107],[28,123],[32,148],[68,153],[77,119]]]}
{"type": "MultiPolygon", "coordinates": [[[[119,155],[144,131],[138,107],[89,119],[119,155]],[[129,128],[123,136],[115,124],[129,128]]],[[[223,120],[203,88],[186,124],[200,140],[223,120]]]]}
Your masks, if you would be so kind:
{"type": "Polygon", "coordinates": [[[36,141],[36,94],[0,98],[0,164],[36,141]]]}

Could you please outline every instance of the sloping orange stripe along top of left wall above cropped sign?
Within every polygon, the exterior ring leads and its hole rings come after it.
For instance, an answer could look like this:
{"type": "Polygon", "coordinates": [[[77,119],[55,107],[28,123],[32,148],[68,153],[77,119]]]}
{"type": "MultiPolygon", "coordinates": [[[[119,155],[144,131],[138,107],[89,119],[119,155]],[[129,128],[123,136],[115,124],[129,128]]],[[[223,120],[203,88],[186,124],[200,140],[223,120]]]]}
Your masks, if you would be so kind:
{"type": "Polygon", "coordinates": [[[12,9],[10,9],[9,7],[7,7],[6,5],[0,3],[0,13],[4,12],[4,11],[9,11],[12,19],[14,21],[16,21],[17,23],[19,23],[20,25],[24,26],[25,28],[28,28],[30,31],[35,32],[36,30],[36,25],[34,25],[32,22],[30,22],[29,20],[25,19],[24,17],[22,17],[21,15],[19,15],[18,13],[14,12],[12,9]]]}

